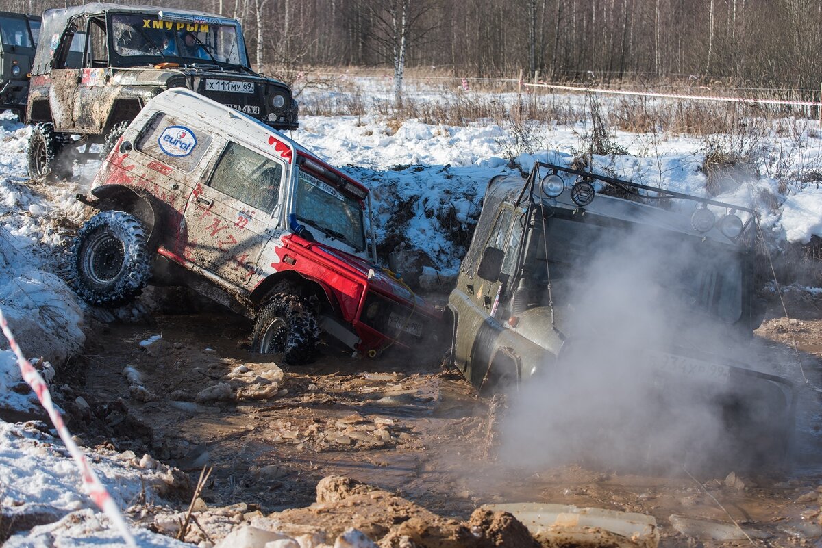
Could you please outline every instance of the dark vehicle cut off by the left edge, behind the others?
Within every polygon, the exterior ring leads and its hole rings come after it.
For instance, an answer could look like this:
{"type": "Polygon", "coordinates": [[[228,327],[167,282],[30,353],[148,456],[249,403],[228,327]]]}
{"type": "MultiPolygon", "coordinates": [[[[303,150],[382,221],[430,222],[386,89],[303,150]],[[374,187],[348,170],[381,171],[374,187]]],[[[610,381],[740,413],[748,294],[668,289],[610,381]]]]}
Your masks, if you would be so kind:
{"type": "Polygon", "coordinates": [[[29,71],[40,34],[38,16],[0,11],[0,112],[11,110],[25,119],[29,71]]]}

